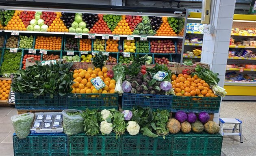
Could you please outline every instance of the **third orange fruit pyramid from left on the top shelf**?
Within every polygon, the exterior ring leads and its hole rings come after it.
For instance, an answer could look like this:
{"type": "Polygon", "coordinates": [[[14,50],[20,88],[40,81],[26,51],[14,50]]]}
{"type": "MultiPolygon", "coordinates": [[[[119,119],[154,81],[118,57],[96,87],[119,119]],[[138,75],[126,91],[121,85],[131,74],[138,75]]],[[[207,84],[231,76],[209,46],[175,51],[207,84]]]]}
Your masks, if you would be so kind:
{"type": "Polygon", "coordinates": [[[113,35],[132,35],[132,30],[125,20],[125,15],[122,15],[122,20],[119,21],[115,29],[112,31],[113,35]]]}

